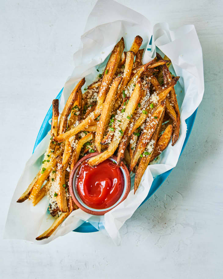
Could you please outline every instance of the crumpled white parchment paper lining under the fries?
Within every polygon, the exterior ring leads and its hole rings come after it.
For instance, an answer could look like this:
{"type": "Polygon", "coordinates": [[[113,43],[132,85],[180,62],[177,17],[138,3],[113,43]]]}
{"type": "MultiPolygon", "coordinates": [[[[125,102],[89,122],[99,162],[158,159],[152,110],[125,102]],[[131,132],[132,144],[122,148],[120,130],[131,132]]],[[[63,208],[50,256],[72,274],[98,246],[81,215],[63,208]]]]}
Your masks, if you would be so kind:
{"type": "Polygon", "coordinates": [[[158,23],[152,27],[147,18],[132,9],[112,0],[99,0],[88,17],[85,33],[81,37],[82,44],[74,53],[75,67],[64,85],[60,112],[71,91],[82,77],[86,77],[87,85],[98,74],[97,68],[101,72],[116,42],[123,37],[125,50],[129,50],[136,35],[143,38],[141,46],[145,48],[143,63],[155,57],[157,46],[171,59],[175,73],[181,77],[179,82],[182,92],[176,88],[177,99],[182,101],[181,129],[177,143],[174,146],[171,144],[168,146],[162,153],[159,164],[148,166],[135,195],[131,190],[126,200],[104,216],[93,216],[81,209],[75,210],[51,237],[36,241],[35,238],[53,223],[54,219],[47,211],[49,202],[45,197],[33,207],[28,200],[22,204],[16,203],[16,200],[31,183],[41,166],[50,137],[47,135],[27,161],[16,186],[6,221],[5,238],[46,244],[88,221],[101,232],[108,234],[115,244],[119,245],[121,241],[119,229],[148,195],[153,177],[176,166],[186,136],[185,119],[199,106],[204,92],[202,49],[193,25],[185,25],[176,30],[170,30],[167,23],[158,23]],[[149,45],[151,36],[152,45],[149,45]]]}

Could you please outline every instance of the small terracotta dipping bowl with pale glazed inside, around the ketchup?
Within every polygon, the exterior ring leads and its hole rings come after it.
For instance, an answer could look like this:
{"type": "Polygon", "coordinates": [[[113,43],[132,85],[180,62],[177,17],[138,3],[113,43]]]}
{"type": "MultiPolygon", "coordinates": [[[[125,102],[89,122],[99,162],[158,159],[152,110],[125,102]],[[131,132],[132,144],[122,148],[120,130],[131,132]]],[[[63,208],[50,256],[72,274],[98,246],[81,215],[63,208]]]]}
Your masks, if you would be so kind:
{"type": "MultiPolygon", "coordinates": [[[[123,200],[126,199],[130,192],[131,187],[131,180],[130,180],[130,174],[128,171],[128,168],[126,165],[122,162],[120,166],[120,170],[122,171],[123,177],[124,177],[124,189],[122,192],[122,195],[120,196],[119,200],[112,205],[111,207],[104,208],[104,209],[95,209],[87,206],[80,198],[77,189],[76,189],[76,178],[79,174],[79,166],[86,160],[89,160],[91,157],[98,155],[98,152],[89,153],[88,155],[82,157],[74,166],[73,170],[71,171],[70,179],[69,179],[69,189],[71,193],[71,197],[75,204],[81,208],[83,211],[90,213],[92,215],[104,215],[106,212],[110,211],[112,208],[116,207],[118,204],[120,204],[123,200]]],[[[111,156],[109,159],[112,161],[115,161],[117,163],[117,157],[111,156]]]]}

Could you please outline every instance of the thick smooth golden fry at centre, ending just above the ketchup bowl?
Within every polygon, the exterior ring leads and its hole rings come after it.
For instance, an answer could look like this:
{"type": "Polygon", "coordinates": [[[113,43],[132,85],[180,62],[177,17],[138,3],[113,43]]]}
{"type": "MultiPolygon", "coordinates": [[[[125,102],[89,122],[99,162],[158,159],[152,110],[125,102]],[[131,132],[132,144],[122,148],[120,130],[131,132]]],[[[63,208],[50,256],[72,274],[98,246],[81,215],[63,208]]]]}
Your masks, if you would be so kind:
{"type": "Polygon", "coordinates": [[[101,111],[100,120],[98,121],[97,130],[95,134],[95,147],[98,152],[101,152],[101,140],[104,137],[105,130],[108,126],[109,120],[112,115],[115,99],[117,96],[117,89],[122,81],[122,77],[114,79],[110,90],[105,98],[104,105],[101,111]]]}

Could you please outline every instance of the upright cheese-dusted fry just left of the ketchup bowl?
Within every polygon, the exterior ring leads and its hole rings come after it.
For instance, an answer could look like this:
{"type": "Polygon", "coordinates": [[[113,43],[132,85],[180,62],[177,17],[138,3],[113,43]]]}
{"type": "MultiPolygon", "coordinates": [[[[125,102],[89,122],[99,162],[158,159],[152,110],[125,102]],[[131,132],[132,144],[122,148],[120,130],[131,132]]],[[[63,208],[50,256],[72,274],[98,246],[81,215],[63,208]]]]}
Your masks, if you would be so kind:
{"type": "Polygon", "coordinates": [[[67,198],[66,198],[66,190],[63,186],[65,184],[65,171],[67,165],[62,166],[62,158],[57,156],[57,169],[56,169],[56,176],[55,176],[55,183],[57,185],[57,194],[56,200],[57,205],[61,212],[67,212],[67,198]]]}

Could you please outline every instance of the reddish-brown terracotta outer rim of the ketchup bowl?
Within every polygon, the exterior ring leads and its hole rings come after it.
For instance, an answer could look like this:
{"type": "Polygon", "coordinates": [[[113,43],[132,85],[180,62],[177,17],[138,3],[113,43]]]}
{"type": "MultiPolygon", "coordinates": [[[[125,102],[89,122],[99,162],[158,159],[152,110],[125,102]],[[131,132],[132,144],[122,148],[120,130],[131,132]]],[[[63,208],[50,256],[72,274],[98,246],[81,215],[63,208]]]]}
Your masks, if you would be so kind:
{"type": "MultiPolygon", "coordinates": [[[[77,170],[77,168],[79,167],[79,165],[84,162],[85,160],[93,157],[93,156],[96,156],[98,155],[99,153],[98,152],[94,152],[94,153],[89,153],[88,155],[82,157],[74,166],[74,168],[72,169],[71,171],[71,175],[70,175],[70,178],[69,178],[69,189],[70,189],[70,194],[71,194],[71,197],[73,199],[73,201],[75,202],[75,204],[80,208],[82,209],[83,211],[87,212],[87,213],[90,213],[92,215],[104,215],[105,213],[107,213],[108,211],[112,210],[113,208],[115,208],[118,204],[120,204],[123,200],[126,199],[126,197],[128,196],[129,192],[130,192],[130,188],[131,188],[131,179],[130,179],[130,173],[128,171],[128,168],[126,167],[126,165],[122,162],[121,163],[121,168],[123,169],[125,175],[126,175],[126,191],[125,191],[125,194],[122,198],[122,200],[114,207],[110,208],[110,209],[107,209],[107,210],[104,210],[104,211],[94,211],[93,209],[90,210],[86,207],[84,207],[82,204],[79,203],[79,201],[77,200],[76,196],[75,196],[75,193],[74,193],[74,189],[73,189],[73,182],[74,182],[74,174],[77,170]]],[[[112,155],[111,157],[109,157],[111,159],[114,159],[117,161],[117,157],[112,155]]],[[[109,159],[108,158],[108,159],[109,159]]],[[[83,202],[83,201],[82,201],[83,202]]],[[[84,202],[83,202],[84,203],[84,202]]]]}

